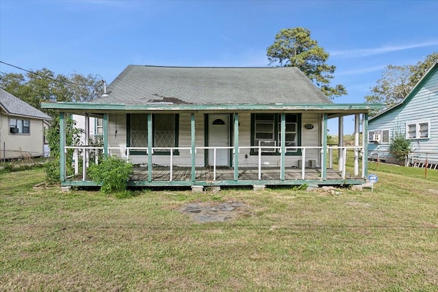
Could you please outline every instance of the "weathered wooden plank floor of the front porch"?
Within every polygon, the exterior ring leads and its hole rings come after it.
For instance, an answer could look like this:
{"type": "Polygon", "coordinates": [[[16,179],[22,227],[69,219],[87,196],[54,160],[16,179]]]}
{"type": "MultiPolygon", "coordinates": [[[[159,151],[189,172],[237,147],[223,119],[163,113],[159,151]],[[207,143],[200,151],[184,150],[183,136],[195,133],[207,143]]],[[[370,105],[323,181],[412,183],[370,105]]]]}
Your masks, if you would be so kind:
{"type": "MultiPolygon", "coordinates": [[[[196,167],[196,181],[214,181],[213,167],[196,167]]],[[[305,180],[320,180],[321,170],[319,168],[306,168],[305,180]]],[[[327,170],[326,179],[343,180],[342,173],[337,170],[327,170]]],[[[361,179],[360,176],[346,174],[345,179],[361,179]]],[[[136,167],[130,178],[131,181],[148,181],[148,168],[136,167]]],[[[174,167],[172,169],[172,181],[191,181],[192,168],[174,167]]],[[[259,180],[259,168],[240,167],[238,170],[238,181],[257,181],[259,180]]],[[[261,168],[261,181],[280,181],[280,168],[263,167],[261,168]]],[[[301,168],[285,168],[285,180],[302,180],[301,168]]],[[[169,167],[154,167],[152,170],[152,181],[170,181],[169,167]]],[[[216,181],[234,181],[234,168],[216,168],[216,181]]]]}

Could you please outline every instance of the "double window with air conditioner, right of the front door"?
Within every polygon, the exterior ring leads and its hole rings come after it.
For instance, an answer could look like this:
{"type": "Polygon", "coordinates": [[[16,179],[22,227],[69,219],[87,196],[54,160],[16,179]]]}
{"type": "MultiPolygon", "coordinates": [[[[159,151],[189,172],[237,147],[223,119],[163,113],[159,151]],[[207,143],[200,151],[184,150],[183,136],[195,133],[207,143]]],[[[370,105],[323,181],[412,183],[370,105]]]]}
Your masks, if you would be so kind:
{"type": "MultiPolygon", "coordinates": [[[[286,114],[285,116],[285,146],[287,155],[300,154],[300,115],[286,114]]],[[[281,114],[252,114],[251,115],[251,146],[281,146],[281,114]]],[[[250,154],[256,155],[259,149],[253,148],[250,154]]],[[[278,155],[279,149],[262,148],[263,155],[278,155]]]]}

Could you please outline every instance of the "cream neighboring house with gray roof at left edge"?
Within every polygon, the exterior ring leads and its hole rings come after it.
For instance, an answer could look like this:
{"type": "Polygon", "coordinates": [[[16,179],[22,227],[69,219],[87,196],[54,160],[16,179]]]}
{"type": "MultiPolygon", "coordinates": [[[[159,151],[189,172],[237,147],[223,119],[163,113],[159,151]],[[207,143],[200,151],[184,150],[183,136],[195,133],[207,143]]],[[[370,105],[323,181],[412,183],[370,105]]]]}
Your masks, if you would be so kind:
{"type": "Polygon", "coordinates": [[[0,159],[48,155],[50,116],[0,88],[0,159]]]}

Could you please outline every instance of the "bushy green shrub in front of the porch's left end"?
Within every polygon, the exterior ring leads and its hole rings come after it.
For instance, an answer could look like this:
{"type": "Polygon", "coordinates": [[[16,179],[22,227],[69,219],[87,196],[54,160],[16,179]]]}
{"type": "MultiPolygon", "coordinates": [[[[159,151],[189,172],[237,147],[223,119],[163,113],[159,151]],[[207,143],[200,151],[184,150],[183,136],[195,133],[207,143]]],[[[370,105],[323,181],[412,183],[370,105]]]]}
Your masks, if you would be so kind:
{"type": "Polygon", "coordinates": [[[105,194],[125,190],[132,172],[133,164],[116,156],[104,157],[101,163],[88,168],[88,175],[92,181],[101,184],[101,191],[105,194]]]}

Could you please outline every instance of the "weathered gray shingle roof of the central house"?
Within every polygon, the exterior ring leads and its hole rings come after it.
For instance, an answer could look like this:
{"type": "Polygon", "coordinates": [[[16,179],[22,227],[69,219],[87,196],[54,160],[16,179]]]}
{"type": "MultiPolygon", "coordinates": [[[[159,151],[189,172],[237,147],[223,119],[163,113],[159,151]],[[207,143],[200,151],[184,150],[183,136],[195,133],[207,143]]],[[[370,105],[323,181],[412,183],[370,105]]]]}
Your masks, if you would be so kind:
{"type": "Polygon", "coordinates": [[[206,68],[129,65],[94,103],[331,104],[294,67],[206,68]]]}

